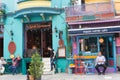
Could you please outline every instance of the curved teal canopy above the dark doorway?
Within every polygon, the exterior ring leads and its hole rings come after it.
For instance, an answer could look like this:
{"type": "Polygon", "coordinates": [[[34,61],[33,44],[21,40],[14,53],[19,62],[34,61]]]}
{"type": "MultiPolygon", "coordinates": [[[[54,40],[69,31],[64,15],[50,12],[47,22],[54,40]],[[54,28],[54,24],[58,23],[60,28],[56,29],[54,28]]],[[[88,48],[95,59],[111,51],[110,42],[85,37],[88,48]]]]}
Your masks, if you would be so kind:
{"type": "Polygon", "coordinates": [[[38,16],[40,13],[44,14],[60,14],[63,11],[61,8],[51,8],[51,7],[32,7],[32,8],[25,8],[16,11],[13,13],[15,18],[21,18],[24,15],[28,16],[38,16]]]}

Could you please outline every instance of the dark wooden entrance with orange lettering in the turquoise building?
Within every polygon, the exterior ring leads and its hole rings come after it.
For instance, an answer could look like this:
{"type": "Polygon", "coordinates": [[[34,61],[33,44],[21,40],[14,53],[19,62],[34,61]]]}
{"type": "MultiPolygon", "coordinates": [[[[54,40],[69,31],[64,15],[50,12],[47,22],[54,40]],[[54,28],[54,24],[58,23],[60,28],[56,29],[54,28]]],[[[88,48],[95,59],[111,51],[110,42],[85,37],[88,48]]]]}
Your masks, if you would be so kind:
{"type": "Polygon", "coordinates": [[[27,57],[33,54],[33,47],[42,57],[50,57],[47,47],[52,46],[51,22],[25,24],[25,50],[27,57]]]}

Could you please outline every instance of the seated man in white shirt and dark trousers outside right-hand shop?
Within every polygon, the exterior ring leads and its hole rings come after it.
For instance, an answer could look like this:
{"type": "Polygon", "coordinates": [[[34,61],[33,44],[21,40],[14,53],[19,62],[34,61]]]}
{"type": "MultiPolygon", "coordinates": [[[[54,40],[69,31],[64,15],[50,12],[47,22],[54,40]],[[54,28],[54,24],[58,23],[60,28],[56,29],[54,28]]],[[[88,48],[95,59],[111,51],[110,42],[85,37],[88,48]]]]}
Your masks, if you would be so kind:
{"type": "Polygon", "coordinates": [[[107,66],[105,65],[105,62],[106,62],[105,57],[102,55],[101,52],[99,52],[98,56],[96,58],[96,66],[95,66],[95,68],[96,68],[96,70],[98,72],[98,75],[100,75],[100,74],[105,75],[105,71],[107,69],[107,66]],[[99,70],[99,67],[103,67],[103,71],[102,72],[99,70]]]}

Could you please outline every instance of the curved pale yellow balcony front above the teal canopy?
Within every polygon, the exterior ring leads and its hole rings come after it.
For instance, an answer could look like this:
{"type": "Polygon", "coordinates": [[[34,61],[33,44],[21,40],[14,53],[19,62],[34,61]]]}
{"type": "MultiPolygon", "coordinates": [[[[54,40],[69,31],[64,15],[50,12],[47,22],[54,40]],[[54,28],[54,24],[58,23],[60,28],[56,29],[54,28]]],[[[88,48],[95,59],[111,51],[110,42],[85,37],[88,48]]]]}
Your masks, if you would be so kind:
{"type": "Polygon", "coordinates": [[[51,0],[19,0],[17,9],[32,7],[51,7],[51,0]]]}

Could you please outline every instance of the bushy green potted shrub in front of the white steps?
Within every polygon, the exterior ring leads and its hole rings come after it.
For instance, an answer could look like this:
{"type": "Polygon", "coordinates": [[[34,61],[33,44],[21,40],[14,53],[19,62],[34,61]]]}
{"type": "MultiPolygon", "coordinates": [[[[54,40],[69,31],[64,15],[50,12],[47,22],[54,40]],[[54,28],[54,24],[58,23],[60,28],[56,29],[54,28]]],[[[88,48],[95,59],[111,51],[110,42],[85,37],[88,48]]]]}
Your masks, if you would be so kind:
{"type": "Polygon", "coordinates": [[[41,75],[43,74],[43,67],[44,64],[42,62],[41,56],[38,54],[38,52],[34,53],[31,58],[30,66],[29,66],[29,73],[33,77],[31,80],[41,80],[41,75]]]}

